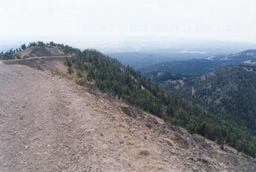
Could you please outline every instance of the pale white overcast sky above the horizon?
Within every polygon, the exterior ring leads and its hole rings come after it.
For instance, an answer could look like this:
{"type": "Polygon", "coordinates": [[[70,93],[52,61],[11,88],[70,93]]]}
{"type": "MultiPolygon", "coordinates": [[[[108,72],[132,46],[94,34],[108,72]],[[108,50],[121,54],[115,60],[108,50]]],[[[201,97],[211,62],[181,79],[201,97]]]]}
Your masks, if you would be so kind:
{"type": "Polygon", "coordinates": [[[256,42],[255,0],[0,0],[1,41],[256,42]]]}

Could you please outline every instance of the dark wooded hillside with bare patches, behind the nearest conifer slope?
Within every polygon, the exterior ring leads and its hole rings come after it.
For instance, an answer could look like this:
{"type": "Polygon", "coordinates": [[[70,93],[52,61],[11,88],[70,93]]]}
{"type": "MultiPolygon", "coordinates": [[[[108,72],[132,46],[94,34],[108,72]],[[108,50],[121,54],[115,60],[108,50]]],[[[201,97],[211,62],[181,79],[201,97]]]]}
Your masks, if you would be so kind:
{"type": "MultiPolygon", "coordinates": [[[[153,72],[147,76],[164,89],[206,107],[225,123],[228,121],[256,136],[256,67],[228,66],[199,76],[168,72],[153,72]]],[[[233,141],[234,138],[230,136],[224,140],[233,141]]]]}

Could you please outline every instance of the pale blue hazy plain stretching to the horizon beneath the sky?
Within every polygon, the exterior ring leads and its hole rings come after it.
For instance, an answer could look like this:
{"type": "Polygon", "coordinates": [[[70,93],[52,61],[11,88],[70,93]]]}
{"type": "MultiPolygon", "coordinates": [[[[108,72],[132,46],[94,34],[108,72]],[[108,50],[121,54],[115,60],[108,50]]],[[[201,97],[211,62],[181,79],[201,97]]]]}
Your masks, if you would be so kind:
{"type": "Polygon", "coordinates": [[[205,39],[172,39],[169,41],[134,41],[120,43],[81,43],[117,59],[122,64],[141,69],[162,62],[204,59],[216,54],[238,53],[256,47],[255,43],[213,41],[205,39]]]}

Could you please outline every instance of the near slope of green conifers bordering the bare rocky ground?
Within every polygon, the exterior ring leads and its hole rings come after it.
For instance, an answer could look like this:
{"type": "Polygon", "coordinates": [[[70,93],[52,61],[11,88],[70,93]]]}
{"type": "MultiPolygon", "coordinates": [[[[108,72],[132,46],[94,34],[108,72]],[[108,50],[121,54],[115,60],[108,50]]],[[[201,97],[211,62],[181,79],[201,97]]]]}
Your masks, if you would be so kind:
{"type": "Polygon", "coordinates": [[[218,143],[226,143],[237,150],[255,156],[256,139],[234,122],[223,120],[195,103],[185,101],[173,92],[166,92],[157,83],[129,66],[96,50],[84,50],[66,59],[68,72],[87,78],[102,92],[149,111],[166,122],[180,125],[190,133],[198,133],[218,143]]]}

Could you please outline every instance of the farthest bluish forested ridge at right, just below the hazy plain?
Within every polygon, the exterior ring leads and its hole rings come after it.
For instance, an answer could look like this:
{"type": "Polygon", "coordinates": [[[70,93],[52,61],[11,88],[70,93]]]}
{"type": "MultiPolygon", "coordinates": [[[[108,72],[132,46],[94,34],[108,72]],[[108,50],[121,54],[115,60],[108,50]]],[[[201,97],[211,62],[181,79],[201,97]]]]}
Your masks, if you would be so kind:
{"type": "Polygon", "coordinates": [[[205,74],[224,66],[256,64],[256,50],[245,50],[238,54],[214,55],[205,59],[193,59],[189,61],[163,62],[154,66],[140,69],[141,73],[152,71],[170,71],[184,75],[205,74]]]}

